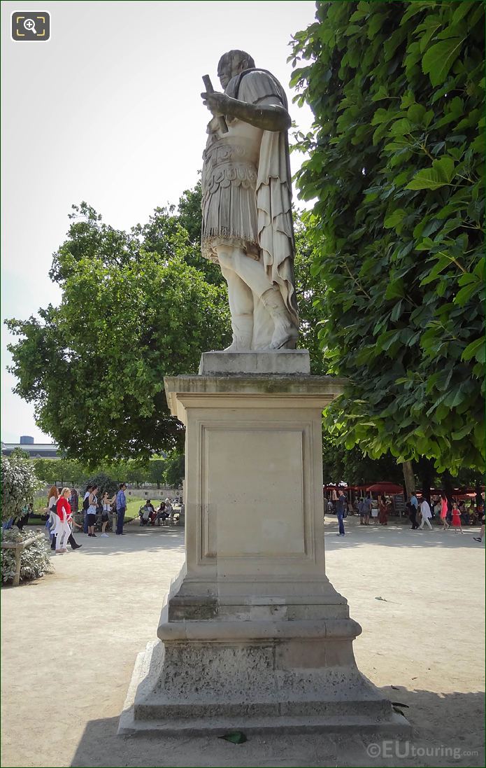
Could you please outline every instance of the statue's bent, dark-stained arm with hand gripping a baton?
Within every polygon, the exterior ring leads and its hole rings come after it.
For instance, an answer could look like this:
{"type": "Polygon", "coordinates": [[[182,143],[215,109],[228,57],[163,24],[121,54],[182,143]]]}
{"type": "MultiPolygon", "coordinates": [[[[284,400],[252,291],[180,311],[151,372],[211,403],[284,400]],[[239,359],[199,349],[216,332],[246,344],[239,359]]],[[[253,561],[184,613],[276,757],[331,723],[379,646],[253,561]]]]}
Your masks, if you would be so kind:
{"type": "Polygon", "coordinates": [[[291,116],[281,104],[248,104],[222,93],[203,93],[201,96],[212,114],[226,114],[262,131],[287,131],[291,127],[291,116]]]}

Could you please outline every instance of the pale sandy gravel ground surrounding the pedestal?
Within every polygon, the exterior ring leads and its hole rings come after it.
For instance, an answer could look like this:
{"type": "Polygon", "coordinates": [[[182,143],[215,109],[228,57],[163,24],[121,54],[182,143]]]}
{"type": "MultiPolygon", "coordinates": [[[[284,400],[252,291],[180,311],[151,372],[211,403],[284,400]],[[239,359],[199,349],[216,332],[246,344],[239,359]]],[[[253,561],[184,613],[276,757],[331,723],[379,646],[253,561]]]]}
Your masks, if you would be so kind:
{"type": "Polygon", "coordinates": [[[379,744],[386,754],[375,759],[359,733],[254,737],[243,745],[117,737],[136,654],[155,638],[163,596],[184,558],[178,528],[128,526],[122,538],[80,535],[83,548],[55,557],[55,574],[2,589],[3,768],[484,764],[477,529],[461,536],[356,522],[348,518],[340,538],[335,518],[326,521],[327,573],[363,626],[355,643],[360,669],[409,705],[408,746],[379,744]]]}

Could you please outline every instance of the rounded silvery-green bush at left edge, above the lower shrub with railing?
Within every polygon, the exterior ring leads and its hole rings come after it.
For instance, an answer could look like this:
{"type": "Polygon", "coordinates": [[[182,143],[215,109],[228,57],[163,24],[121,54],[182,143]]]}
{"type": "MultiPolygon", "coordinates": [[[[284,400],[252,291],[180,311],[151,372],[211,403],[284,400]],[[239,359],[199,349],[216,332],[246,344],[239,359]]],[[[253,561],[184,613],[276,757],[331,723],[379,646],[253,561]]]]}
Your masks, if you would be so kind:
{"type": "Polygon", "coordinates": [[[19,455],[0,458],[2,485],[2,520],[15,518],[25,504],[34,502],[34,493],[42,487],[32,462],[19,455]]]}

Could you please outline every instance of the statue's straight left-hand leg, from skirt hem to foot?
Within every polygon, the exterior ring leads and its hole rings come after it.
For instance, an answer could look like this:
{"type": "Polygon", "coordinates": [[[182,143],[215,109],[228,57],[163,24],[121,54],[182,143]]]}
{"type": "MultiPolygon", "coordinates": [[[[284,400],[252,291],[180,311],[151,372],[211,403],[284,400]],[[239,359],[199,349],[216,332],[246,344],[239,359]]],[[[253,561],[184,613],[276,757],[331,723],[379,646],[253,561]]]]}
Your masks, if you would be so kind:
{"type": "Polygon", "coordinates": [[[237,248],[218,246],[218,260],[222,275],[228,284],[229,311],[232,316],[233,341],[225,352],[245,352],[251,349],[253,339],[253,294],[248,285],[233,269],[237,248]]]}

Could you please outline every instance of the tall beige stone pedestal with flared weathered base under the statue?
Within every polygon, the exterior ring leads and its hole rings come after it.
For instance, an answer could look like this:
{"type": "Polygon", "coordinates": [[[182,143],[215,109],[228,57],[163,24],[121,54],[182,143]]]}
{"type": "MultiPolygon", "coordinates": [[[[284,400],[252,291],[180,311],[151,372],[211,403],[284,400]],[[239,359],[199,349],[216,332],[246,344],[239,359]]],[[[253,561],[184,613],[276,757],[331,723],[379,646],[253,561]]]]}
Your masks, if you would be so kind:
{"type": "Polygon", "coordinates": [[[119,732],[399,730],[406,720],[356,667],[361,628],[324,567],[321,413],[343,382],[235,372],[165,384],[186,425],[186,564],[119,732]]]}

